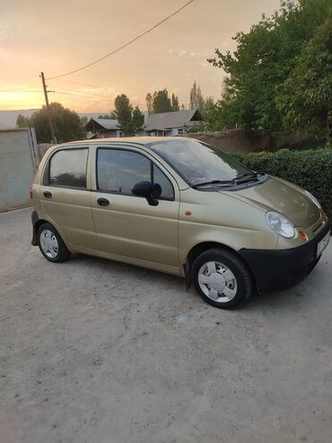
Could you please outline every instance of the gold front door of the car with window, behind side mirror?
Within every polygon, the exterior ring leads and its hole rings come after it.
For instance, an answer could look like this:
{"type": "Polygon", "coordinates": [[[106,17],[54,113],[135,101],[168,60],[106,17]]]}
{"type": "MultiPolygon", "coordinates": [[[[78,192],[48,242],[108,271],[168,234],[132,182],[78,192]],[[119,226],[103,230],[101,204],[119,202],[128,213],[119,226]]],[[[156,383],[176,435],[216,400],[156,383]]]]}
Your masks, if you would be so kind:
{"type": "Polygon", "coordinates": [[[92,214],[100,250],[178,268],[177,183],[135,148],[100,147],[96,155],[92,214]],[[157,206],[133,195],[142,181],[154,183],[157,206]]]}

